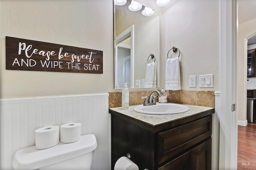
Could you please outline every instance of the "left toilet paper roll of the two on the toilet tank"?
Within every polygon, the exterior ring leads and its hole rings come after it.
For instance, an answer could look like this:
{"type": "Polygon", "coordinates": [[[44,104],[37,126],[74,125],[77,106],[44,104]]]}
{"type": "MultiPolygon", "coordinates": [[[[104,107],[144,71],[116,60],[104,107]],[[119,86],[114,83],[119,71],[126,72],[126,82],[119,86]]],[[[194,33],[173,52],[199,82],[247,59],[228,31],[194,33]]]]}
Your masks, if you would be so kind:
{"type": "Polygon", "coordinates": [[[60,142],[58,126],[38,128],[35,131],[36,149],[46,149],[60,142]]]}

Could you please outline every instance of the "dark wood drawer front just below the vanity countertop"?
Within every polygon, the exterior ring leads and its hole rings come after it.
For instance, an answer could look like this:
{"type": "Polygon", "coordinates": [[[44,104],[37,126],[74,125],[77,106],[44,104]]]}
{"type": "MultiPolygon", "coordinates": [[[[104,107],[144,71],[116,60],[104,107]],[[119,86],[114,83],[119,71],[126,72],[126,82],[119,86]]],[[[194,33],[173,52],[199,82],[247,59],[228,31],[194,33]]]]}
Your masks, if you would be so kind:
{"type": "Polygon", "coordinates": [[[212,115],[158,134],[158,164],[212,135],[212,115]]]}

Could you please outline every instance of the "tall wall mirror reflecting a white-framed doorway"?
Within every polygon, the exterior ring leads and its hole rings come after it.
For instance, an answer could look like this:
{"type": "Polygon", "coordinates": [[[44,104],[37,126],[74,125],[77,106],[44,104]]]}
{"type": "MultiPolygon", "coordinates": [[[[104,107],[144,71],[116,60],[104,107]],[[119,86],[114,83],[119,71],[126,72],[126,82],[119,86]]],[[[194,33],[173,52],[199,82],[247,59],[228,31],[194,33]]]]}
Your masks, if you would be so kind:
{"type": "Polygon", "coordinates": [[[146,74],[148,63],[155,64],[154,87],[159,87],[160,14],[155,11],[152,16],[143,16],[144,7],[130,11],[130,3],[127,1],[123,6],[114,7],[115,89],[122,89],[124,83],[129,83],[130,89],[150,88],[146,74]],[[148,59],[150,54],[155,58],[148,59]]]}

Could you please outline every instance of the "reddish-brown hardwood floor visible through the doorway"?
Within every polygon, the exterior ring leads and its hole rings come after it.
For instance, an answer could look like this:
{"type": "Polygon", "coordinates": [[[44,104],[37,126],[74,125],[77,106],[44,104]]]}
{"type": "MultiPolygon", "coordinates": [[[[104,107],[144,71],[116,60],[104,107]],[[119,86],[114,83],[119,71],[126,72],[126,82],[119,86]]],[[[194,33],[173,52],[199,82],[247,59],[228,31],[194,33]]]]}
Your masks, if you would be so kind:
{"type": "Polygon", "coordinates": [[[238,170],[256,170],[256,123],[238,126],[238,170]]]}

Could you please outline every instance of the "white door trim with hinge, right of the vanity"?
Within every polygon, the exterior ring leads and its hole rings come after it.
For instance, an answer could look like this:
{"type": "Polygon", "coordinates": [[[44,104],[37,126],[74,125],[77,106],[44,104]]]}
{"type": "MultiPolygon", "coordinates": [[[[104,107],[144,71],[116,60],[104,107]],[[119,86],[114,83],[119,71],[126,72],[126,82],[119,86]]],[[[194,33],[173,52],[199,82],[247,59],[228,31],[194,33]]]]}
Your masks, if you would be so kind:
{"type": "Polygon", "coordinates": [[[219,169],[237,168],[237,0],[220,0],[219,169]]]}

